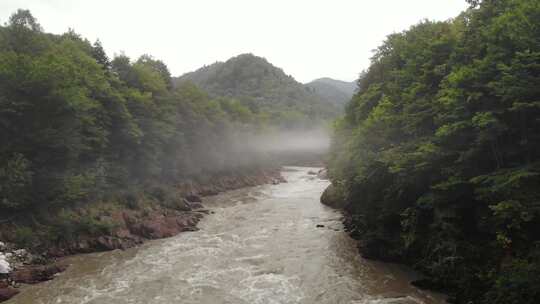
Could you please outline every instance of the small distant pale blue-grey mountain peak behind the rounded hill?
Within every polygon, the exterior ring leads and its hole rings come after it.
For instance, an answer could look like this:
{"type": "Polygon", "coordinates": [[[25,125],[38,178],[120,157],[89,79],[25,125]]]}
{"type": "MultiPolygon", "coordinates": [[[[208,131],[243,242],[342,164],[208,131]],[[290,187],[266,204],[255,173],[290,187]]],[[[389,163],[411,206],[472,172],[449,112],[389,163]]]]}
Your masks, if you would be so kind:
{"type": "Polygon", "coordinates": [[[329,103],[343,107],[351,100],[356,91],[356,82],[347,82],[332,78],[319,78],[304,85],[311,92],[321,96],[329,103]]]}

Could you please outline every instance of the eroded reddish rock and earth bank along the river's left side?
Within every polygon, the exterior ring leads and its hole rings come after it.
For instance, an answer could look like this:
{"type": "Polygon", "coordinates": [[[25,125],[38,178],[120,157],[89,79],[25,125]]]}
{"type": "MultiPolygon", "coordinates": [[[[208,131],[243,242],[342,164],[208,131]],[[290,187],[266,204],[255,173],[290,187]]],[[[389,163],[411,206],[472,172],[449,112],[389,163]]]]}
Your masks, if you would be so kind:
{"type": "MultiPolygon", "coordinates": [[[[138,206],[108,207],[96,203],[72,210],[82,221],[94,221],[95,227],[109,227],[93,233],[81,233],[54,244],[20,248],[0,242],[0,302],[18,293],[19,284],[50,280],[66,266],[58,258],[78,253],[127,249],[146,240],[196,231],[197,223],[211,211],[203,206],[203,197],[223,191],[266,183],[286,182],[279,169],[255,170],[209,178],[205,182],[189,181],[174,187],[174,193],[161,193],[161,203],[138,206]],[[166,197],[166,198],[165,198],[166,197]],[[98,211],[96,211],[98,210],[98,211]]],[[[42,227],[49,229],[50,227],[42,227]]],[[[0,239],[13,240],[19,224],[0,225],[0,239]]],[[[16,240],[14,240],[16,241],[16,240]]]]}

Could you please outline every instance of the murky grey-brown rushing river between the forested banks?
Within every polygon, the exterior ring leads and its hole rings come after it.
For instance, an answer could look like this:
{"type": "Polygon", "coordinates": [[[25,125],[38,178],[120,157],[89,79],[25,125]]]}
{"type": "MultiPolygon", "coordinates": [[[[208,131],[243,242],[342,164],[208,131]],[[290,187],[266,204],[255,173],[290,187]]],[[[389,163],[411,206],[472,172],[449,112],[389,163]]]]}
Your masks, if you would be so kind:
{"type": "Polygon", "coordinates": [[[309,170],[288,167],[288,183],[206,198],[214,214],[200,231],[70,257],[55,280],[7,303],[444,303],[412,287],[406,268],[362,259],[340,213],[319,203],[328,181],[309,170]]]}

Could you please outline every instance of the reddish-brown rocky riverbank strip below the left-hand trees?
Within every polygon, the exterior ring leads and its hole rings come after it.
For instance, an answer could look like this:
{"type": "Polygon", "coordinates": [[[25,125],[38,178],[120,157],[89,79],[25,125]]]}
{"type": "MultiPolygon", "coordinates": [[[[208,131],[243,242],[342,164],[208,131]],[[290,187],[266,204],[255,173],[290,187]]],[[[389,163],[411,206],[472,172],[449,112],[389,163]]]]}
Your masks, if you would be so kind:
{"type": "Polygon", "coordinates": [[[0,274],[0,302],[17,295],[20,284],[36,284],[53,279],[67,268],[67,265],[60,262],[63,257],[115,249],[125,250],[148,240],[198,230],[198,222],[205,214],[211,213],[203,206],[203,198],[206,196],[284,182],[287,181],[281,175],[281,168],[272,168],[214,177],[205,183],[181,183],[175,186],[178,199],[173,204],[156,204],[151,209],[115,210],[103,216],[104,220],[115,223],[115,228],[110,233],[81,235],[77,239],[46,248],[45,252],[40,254],[35,253],[35,248],[17,248],[13,244],[1,242],[0,239],[0,254],[14,261],[9,273],[0,274]]]}

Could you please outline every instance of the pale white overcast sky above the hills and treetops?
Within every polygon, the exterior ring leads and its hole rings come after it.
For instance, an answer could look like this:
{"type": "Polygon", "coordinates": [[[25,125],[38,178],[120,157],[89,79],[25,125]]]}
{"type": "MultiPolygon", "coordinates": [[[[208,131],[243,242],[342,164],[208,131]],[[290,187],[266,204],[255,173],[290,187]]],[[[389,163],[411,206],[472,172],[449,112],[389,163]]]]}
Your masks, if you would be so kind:
{"type": "Polygon", "coordinates": [[[446,20],[464,0],[0,0],[0,22],[30,9],[45,31],[99,38],[110,57],[150,54],[173,75],[241,54],[300,82],[355,80],[386,35],[446,20]]]}

